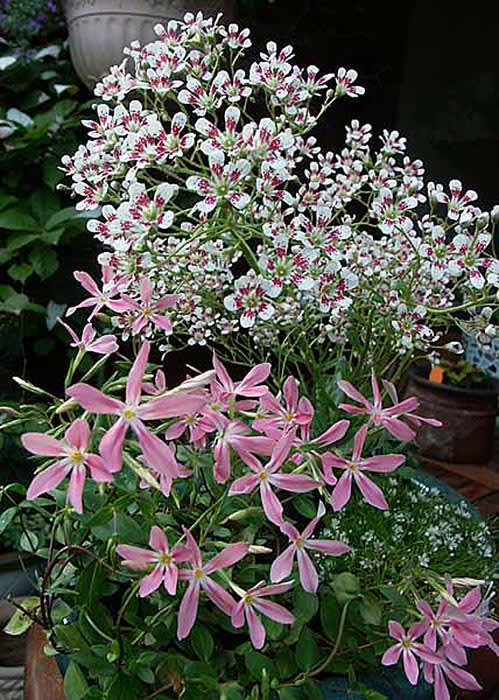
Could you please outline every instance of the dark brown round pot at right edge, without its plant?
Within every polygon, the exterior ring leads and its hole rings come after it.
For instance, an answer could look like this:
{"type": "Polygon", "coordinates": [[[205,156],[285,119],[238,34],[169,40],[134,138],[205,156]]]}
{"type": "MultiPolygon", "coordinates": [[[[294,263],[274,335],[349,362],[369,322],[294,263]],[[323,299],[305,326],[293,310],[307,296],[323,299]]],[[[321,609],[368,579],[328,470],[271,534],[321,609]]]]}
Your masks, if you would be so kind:
{"type": "Polygon", "coordinates": [[[409,373],[406,396],[420,401],[418,413],[438,418],[442,428],[423,424],[417,431],[421,455],[453,464],[483,464],[492,456],[497,388],[471,389],[430,382],[409,373]]]}

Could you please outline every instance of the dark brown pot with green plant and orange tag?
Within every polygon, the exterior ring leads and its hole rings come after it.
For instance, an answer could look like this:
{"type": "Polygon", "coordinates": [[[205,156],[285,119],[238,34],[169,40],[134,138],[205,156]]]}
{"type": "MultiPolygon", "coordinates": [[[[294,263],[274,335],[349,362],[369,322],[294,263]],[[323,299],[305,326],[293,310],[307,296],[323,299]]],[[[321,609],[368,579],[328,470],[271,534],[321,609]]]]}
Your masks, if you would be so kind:
{"type": "Polygon", "coordinates": [[[445,431],[418,428],[421,455],[454,464],[483,464],[494,450],[497,383],[465,358],[444,357],[438,365],[419,363],[409,373],[407,392],[422,415],[439,419],[445,431]]]}

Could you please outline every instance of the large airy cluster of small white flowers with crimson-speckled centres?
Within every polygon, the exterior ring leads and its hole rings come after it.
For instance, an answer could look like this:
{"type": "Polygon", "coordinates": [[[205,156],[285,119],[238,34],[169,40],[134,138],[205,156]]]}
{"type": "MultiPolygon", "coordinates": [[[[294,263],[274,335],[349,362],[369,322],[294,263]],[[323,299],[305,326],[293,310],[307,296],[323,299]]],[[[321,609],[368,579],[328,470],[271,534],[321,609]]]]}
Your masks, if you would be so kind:
{"type": "Polygon", "coordinates": [[[190,343],[247,334],[251,352],[294,331],[302,359],[312,334],[322,366],[333,341],[354,362],[364,348],[378,372],[387,352],[437,342],[455,307],[471,325],[495,310],[494,222],[474,191],[425,182],[396,131],[374,149],[354,120],[338,153],[309,135],[335,100],[363,93],[354,70],[302,69],[273,42],[245,70],[249,31],[201,14],[156,34],[126,50],[132,73],[124,62],[96,87],[89,140],[64,159],[129,299],[116,319],[125,337],[170,342],[138,320],[145,277],[152,303],[176,295],[169,317],[190,343]]]}

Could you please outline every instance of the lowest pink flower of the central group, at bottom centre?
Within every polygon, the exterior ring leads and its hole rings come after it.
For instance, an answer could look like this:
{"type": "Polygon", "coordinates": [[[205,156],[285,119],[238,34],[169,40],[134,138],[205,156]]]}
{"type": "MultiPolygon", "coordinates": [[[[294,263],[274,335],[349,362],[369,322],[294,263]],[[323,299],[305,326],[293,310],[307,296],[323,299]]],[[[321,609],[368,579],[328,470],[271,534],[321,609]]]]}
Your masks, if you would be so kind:
{"type": "Polygon", "coordinates": [[[295,621],[294,615],[279,603],[263,600],[270,595],[285,593],[292,586],[292,583],[278,583],[273,586],[266,586],[264,582],[258,583],[253,588],[243,591],[241,600],[234,606],[231,615],[232,625],[242,627],[246,619],[251,643],[255,649],[261,649],[265,644],[265,627],[256,612],[282,625],[292,625],[295,621]]]}

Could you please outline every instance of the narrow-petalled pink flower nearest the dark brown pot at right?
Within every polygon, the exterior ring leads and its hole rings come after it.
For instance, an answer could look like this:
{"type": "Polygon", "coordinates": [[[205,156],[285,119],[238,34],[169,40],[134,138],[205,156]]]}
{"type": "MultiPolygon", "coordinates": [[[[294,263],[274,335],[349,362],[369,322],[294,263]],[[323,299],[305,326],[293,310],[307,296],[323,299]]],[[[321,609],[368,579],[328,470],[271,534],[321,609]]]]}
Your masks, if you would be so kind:
{"type": "Polygon", "coordinates": [[[419,426],[421,423],[428,423],[436,427],[442,425],[442,423],[435,418],[425,418],[414,414],[414,411],[419,406],[419,401],[415,396],[399,401],[394,385],[391,384],[391,382],[385,381],[383,385],[394,402],[394,405],[389,408],[383,408],[381,392],[374,373],[371,375],[371,387],[373,391],[372,403],[361,394],[358,389],[350,384],[350,382],[341,379],[338,382],[339,388],[350,399],[353,399],[361,405],[352,406],[351,404],[341,403],[339,408],[347,413],[369,416],[369,420],[373,425],[376,427],[382,425],[393,437],[396,437],[402,442],[409,442],[416,437],[415,430],[409,427],[407,423],[412,423],[415,427],[419,426]],[[404,418],[407,423],[401,420],[401,418],[404,418]]]}

